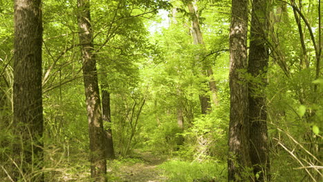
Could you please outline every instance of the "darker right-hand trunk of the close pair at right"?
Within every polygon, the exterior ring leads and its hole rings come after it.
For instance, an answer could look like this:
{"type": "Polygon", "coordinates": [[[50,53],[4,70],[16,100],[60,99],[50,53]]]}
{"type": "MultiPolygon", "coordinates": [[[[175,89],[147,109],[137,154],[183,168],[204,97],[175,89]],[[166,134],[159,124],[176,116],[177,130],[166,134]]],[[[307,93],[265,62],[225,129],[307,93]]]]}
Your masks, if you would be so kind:
{"type": "Polygon", "coordinates": [[[249,122],[250,143],[249,152],[253,173],[259,174],[255,181],[268,181],[270,163],[268,151],[266,95],[266,68],[268,67],[268,10],[266,0],[253,0],[251,17],[251,41],[248,57],[248,72],[262,83],[249,83],[249,122]]]}

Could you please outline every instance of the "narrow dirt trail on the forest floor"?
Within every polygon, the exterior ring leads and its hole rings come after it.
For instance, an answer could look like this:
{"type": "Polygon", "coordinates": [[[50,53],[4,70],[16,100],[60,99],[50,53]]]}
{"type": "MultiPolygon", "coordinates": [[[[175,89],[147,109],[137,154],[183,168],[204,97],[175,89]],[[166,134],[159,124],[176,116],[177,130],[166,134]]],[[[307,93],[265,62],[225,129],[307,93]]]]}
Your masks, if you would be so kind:
{"type": "Polygon", "coordinates": [[[123,182],[164,182],[166,177],[162,176],[162,170],[157,168],[157,165],[166,161],[163,156],[155,156],[151,152],[140,152],[139,158],[144,163],[136,163],[135,165],[122,166],[121,179],[123,182]]]}

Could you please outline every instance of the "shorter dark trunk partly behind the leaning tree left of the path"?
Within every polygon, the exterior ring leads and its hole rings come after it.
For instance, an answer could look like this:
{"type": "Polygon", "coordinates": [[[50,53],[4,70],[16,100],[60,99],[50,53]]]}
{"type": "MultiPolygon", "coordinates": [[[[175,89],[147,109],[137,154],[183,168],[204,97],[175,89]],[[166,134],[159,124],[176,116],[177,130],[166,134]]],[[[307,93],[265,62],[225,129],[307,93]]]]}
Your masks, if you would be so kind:
{"type": "Polygon", "coordinates": [[[112,129],[111,129],[111,109],[110,109],[110,92],[107,91],[106,85],[101,85],[102,90],[102,117],[108,125],[106,133],[106,159],[115,159],[115,149],[113,148],[112,129]]]}

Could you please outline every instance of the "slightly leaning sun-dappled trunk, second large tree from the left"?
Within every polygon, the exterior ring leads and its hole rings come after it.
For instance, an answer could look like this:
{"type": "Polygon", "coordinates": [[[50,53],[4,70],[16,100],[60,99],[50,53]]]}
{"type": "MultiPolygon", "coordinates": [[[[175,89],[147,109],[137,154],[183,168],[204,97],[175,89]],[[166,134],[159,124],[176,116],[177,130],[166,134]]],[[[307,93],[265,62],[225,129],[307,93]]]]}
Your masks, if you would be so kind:
{"type": "Polygon", "coordinates": [[[83,77],[90,136],[91,177],[95,181],[106,181],[106,134],[101,116],[95,54],[92,53],[94,46],[90,24],[90,1],[78,0],[77,8],[79,9],[79,42],[82,45],[83,77]]]}

